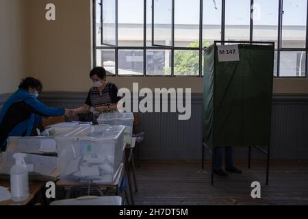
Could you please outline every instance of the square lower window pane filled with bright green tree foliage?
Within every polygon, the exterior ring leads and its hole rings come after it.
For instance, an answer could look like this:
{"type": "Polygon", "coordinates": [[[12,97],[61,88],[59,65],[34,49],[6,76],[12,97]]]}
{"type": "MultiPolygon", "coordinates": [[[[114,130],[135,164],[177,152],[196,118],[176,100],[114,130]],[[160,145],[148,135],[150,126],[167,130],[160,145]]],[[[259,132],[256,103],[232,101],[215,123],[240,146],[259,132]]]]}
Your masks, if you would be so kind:
{"type": "Polygon", "coordinates": [[[199,75],[199,51],[175,51],[175,75],[199,75]]]}

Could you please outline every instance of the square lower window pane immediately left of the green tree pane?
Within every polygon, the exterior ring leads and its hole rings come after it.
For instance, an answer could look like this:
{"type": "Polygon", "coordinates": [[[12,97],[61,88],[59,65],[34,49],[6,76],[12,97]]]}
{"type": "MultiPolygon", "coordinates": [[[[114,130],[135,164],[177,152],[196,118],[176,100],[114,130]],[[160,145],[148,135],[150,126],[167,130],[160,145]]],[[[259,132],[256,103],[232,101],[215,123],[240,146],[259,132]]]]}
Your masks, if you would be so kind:
{"type": "Polygon", "coordinates": [[[147,50],[146,75],[171,75],[171,51],[147,50]]]}

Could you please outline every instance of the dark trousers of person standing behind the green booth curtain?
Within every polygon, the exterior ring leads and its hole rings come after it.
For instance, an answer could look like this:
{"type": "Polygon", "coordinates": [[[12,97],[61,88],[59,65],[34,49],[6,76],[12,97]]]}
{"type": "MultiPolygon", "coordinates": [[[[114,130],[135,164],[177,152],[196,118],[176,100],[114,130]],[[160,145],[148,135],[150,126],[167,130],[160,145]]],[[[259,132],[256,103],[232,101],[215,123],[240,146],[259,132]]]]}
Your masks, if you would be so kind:
{"type": "Polygon", "coordinates": [[[222,155],[224,151],[226,168],[233,168],[233,156],[231,146],[216,146],[214,148],[214,169],[222,168],[222,155]]]}

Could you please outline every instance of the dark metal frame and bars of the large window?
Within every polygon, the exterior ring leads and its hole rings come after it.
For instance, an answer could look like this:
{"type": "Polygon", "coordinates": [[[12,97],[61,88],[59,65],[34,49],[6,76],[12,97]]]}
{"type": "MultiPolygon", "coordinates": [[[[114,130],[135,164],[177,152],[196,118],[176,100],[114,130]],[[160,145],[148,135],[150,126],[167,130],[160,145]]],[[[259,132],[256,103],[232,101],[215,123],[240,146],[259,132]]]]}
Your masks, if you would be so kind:
{"type": "MultiPolygon", "coordinates": [[[[175,0],[172,0],[172,46],[164,46],[164,45],[155,45],[153,44],[153,36],[154,36],[154,23],[153,23],[153,10],[154,10],[154,4],[152,0],[152,46],[147,46],[146,44],[146,5],[147,0],[144,0],[144,43],[142,47],[118,47],[118,0],[116,1],[116,45],[111,44],[101,44],[101,46],[97,46],[97,38],[96,38],[96,31],[97,31],[97,24],[96,24],[96,0],[92,0],[92,14],[93,14],[93,64],[96,66],[97,62],[97,50],[101,49],[114,49],[115,52],[115,74],[110,75],[112,77],[203,77],[203,0],[200,1],[200,7],[199,7],[199,47],[175,47],[175,0]],[[131,50],[143,50],[143,75],[118,75],[118,51],[122,49],[131,49],[131,50]],[[146,74],[146,51],[147,50],[170,50],[171,51],[171,75],[147,75],[146,74]],[[199,74],[198,75],[175,75],[174,73],[174,58],[175,58],[175,51],[176,50],[198,50],[199,51],[199,74]]],[[[103,0],[101,0],[101,6],[103,6],[103,0]]],[[[308,77],[308,3],[307,3],[307,22],[306,22],[306,46],[304,48],[283,48],[281,47],[282,42],[282,27],[283,27],[283,0],[277,0],[279,1],[279,12],[278,12],[278,38],[277,38],[277,49],[275,51],[277,52],[277,75],[274,75],[275,78],[307,78],[308,77]],[[305,60],[305,75],[304,76],[280,76],[281,69],[280,69],[280,60],[281,60],[281,52],[283,51],[305,51],[306,52],[306,60],[305,60]]],[[[253,13],[253,4],[254,0],[251,0],[251,14],[253,13]]],[[[101,13],[103,13],[103,8],[101,7],[101,13]]],[[[226,0],[222,0],[222,21],[221,21],[221,41],[222,43],[227,42],[225,41],[225,14],[226,14],[226,0]]],[[[101,14],[101,19],[103,19],[103,14],[101,14]]],[[[103,34],[103,22],[101,22],[101,34],[103,34]]],[[[103,38],[101,39],[103,40],[103,38]]],[[[233,41],[234,42],[234,41],[233,41]]],[[[250,21],[250,39],[248,42],[253,42],[253,18],[251,17],[250,21]]]]}

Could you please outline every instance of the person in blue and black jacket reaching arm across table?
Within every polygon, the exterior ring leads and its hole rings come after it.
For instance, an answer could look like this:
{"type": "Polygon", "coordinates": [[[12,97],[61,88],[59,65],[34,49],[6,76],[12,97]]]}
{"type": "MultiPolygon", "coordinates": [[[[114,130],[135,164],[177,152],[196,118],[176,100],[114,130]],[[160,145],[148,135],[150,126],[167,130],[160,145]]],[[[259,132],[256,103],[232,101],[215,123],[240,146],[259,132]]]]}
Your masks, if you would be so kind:
{"type": "Polygon", "coordinates": [[[4,103],[0,114],[0,146],[5,151],[9,136],[30,136],[42,116],[70,115],[62,107],[48,107],[38,101],[42,83],[33,77],[21,81],[18,90],[4,103]]]}

